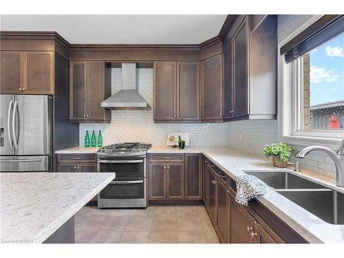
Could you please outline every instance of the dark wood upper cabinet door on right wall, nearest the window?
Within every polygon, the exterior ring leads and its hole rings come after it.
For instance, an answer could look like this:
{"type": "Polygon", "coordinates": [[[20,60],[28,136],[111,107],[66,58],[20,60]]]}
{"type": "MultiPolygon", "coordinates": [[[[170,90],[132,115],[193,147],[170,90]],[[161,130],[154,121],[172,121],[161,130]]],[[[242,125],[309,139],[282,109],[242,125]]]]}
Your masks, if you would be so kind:
{"type": "Polygon", "coordinates": [[[248,24],[241,23],[233,36],[233,116],[248,114],[248,24]]]}

